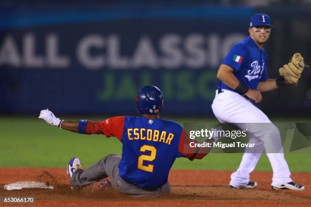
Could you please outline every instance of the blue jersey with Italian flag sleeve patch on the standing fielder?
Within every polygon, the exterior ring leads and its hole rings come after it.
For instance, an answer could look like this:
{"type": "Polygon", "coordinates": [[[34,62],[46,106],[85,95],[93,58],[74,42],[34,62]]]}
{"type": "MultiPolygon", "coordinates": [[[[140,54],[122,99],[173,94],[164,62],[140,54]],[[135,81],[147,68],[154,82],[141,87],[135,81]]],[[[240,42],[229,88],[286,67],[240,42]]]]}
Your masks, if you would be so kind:
{"type": "MultiPolygon", "coordinates": [[[[234,76],[250,89],[257,89],[259,82],[268,79],[267,54],[264,49],[259,49],[251,37],[237,43],[229,51],[222,64],[232,67],[234,76]]],[[[237,92],[222,81],[218,88],[237,92]]]]}

